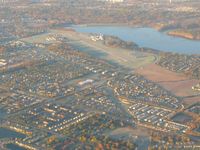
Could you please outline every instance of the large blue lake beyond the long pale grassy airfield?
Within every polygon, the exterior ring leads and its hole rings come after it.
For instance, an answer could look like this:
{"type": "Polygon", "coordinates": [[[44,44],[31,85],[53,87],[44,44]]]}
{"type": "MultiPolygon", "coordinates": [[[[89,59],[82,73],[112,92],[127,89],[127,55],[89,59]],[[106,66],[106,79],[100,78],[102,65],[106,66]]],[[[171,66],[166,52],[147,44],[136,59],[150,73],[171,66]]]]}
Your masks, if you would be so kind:
{"type": "Polygon", "coordinates": [[[125,41],[132,41],[140,47],[156,49],[165,52],[183,54],[200,54],[200,41],[169,36],[152,28],[132,28],[124,26],[70,26],[77,32],[101,33],[117,36],[125,41]]]}

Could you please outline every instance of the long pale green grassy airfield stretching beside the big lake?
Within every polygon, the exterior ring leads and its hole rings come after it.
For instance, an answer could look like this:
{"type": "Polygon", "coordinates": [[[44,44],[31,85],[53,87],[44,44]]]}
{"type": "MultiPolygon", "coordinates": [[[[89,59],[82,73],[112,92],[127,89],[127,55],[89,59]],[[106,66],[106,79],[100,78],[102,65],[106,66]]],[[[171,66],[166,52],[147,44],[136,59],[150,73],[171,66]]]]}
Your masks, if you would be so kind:
{"type": "Polygon", "coordinates": [[[49,33],[32,36],[21,40],[28,43],[56,43],[57,41],[52,39],[53,35],[62,35],[68,38],[71,44],[73,45],[87,46],[88,49],[91,49],[93,52],[104,54],[103,59],[112,61],[127,68],[135,69],[153,63],[157,60],[157,56],[154,54],[144,52],[133,52],[127,49],[108,47],[100,42],[92,41],[90,37],[86,34],[68,31],[64,29],[52,30],[49,33]]]}

